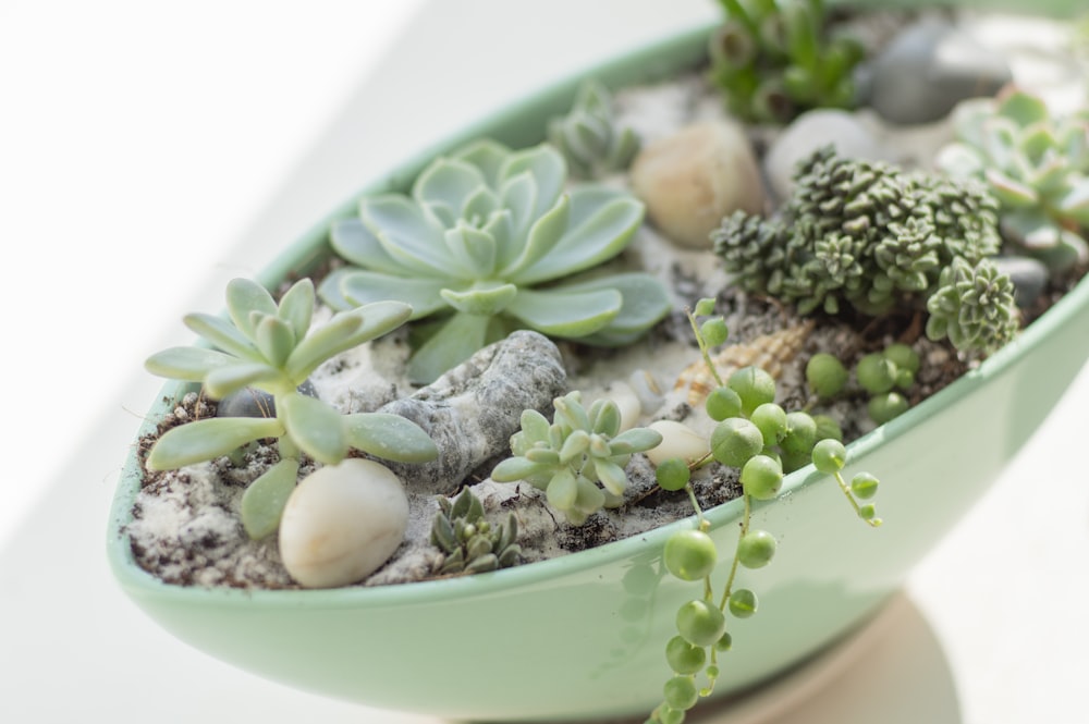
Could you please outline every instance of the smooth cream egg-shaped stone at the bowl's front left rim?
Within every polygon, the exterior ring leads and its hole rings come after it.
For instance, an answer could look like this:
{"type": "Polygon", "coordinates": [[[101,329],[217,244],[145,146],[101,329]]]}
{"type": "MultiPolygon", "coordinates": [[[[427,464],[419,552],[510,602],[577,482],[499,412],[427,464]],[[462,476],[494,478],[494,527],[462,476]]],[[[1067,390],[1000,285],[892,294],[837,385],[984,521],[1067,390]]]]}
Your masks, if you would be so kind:
{"type": "Polygon", "coordinates": [[[280,521],[280,556],[306,588],[363,580],[404,539],[408,499],[387,467],[358,458],[311,473],[292,491],[280,521]]]}

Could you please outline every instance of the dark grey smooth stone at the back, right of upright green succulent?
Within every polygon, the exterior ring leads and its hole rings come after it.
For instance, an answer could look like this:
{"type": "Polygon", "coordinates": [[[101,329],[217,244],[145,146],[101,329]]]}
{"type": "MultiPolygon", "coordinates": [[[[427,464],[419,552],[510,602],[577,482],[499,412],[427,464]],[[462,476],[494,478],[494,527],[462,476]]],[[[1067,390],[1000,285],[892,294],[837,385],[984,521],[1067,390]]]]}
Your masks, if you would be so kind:
{"type": "Polygon", "coordinates": [[[930,123],[966,98],[993,96],[1013,79],[999,52],[946,22],[901,32],[867,69],[869,105],[892,123],[930,123]]]}

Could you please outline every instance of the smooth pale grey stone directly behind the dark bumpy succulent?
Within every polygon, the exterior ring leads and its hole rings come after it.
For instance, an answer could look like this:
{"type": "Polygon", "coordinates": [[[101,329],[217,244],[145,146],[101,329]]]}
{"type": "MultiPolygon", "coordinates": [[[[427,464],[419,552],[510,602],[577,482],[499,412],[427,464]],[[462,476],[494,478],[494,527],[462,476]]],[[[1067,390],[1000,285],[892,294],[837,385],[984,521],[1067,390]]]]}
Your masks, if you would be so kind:
{"type": "Polygon", "coordinates": [[[807,111],[779,134],[763,157],[764,176],[778,199],[791,195],[798,161],[827,145],[835,146],[843,158],[882,160],[888,157],[870,128],[854,113],[834,108],[807,111]]]}

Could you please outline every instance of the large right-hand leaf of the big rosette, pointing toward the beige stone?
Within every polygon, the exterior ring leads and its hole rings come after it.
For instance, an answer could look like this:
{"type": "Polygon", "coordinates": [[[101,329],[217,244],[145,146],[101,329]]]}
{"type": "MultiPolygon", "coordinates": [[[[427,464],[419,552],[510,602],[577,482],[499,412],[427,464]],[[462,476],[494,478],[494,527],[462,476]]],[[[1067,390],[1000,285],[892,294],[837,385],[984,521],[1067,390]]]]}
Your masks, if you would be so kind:
{"type": "Polygon", "coordinates": [[[510,281],[519,284],[559,279],[607,261],[620,254],[643,223],[644,206],[635,198],[603,187],[571,193],[567,231],[548,255],[533,265],[519,265],[510,281]]]}

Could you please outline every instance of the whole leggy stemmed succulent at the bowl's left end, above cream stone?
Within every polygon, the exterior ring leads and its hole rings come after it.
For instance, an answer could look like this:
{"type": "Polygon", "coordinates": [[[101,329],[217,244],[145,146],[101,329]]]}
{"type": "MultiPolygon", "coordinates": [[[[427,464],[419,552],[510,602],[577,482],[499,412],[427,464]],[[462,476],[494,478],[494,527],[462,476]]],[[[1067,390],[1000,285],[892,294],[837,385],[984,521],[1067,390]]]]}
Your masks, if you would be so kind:
{"type": "Polygon", "coordinates": [[[228,318],[192,314],[185,326],[218,348],[171,347],[145,363],[152,375],[200,382],[212,400],[249,386],[272,395],[274,416],[215,417],[168,430],[151,447],[147,467],[180,468],[229,455],[255,440],[279,440],[280,462],[254,480],[242,499],[242,521],[253,538],[276,530],[295,487],[299,455],[333,465],[351,449],[377,457],[417,463],[438,455],[415,422],[396,415],[342,415],[298,391],[327,359],[400,327],[411,314],[400,302],[378,302],[341,311],[310,329],[314,284],[302,279],[277,304],[260,284],[235,279],[227,286],[228,318]]]}

